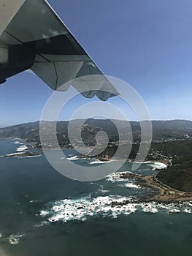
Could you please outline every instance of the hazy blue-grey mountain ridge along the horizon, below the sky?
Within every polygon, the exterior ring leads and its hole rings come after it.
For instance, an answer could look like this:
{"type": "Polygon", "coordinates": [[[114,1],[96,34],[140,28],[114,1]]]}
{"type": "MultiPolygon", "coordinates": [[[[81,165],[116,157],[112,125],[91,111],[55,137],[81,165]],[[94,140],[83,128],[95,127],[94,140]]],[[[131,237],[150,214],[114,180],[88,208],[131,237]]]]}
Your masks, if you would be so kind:
{"type": "MultiPolygon", "coordinates": [[[[127,121],[115,120],[116,124],[123,133],[124,139],[128,137],[127,121]]],[[[118,129],[110,120],[93,119],[86,121],[72,121],[72,128],[75,130],[81,127],[82,138],[93,143],[93,138],[99,131],[107,132],[110,140],[118,140],[118,129]]],[[[140,124],[137,121],[129,122],[133,134],[134,141],[139,141],[141,137],[140,124]]],[[[68,138],[69,121],[57,122],[57,135],[59,143],[64,144],[69,142],[68,138]]],[[[152,121],[153,125],[153,140],[161,142],[162,140],[178,140],[192,137],[192,121],[171,120],[171,121],[152,121]]],[[[47,132],[53,127],[53,122],[48,122],[47,132]]],[[[0,138],[22,138],[24,140],[39,142],[39,121],[26,124],[18,124],[11,127],[0,129],[0,138]]]]}

